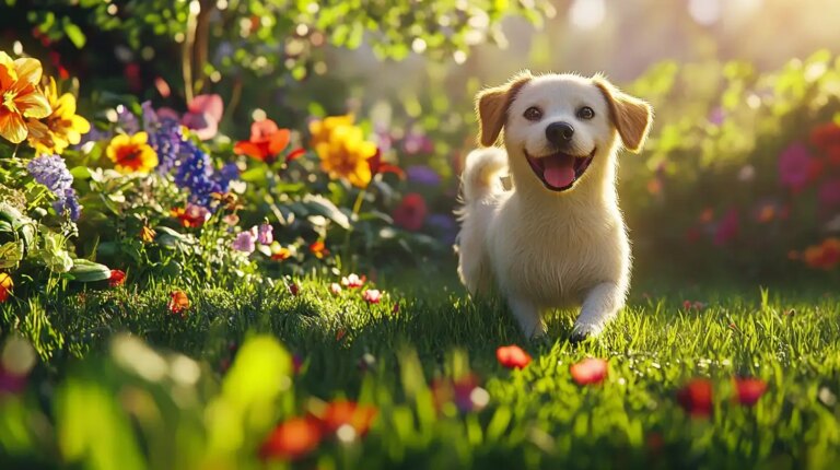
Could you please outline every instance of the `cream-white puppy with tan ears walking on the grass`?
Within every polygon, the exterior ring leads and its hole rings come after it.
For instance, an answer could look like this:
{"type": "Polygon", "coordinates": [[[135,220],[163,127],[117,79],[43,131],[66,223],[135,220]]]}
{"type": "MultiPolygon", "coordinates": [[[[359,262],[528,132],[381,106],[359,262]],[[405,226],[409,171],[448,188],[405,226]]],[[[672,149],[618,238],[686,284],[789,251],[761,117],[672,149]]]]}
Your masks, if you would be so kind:
{"type": "Polygon", "coordinates": [[[546,333],[547,310],[578,305],[571,340],[599,334],[630,284],[617,153],[642,149],[653,108],[602,75],[525,71],[479,92],[476,113],[481,148],[467,155],[458,210],[462,282],[474,297],[504,297],[530,338],[546,333]]]}

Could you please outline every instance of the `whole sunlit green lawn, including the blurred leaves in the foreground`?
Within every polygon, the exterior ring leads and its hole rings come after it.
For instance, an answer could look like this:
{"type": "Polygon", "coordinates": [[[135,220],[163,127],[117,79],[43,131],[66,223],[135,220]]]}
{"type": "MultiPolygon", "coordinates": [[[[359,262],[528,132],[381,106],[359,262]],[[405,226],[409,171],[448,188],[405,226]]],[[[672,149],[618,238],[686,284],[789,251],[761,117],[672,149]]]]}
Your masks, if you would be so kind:
{"type": "Polygon", "coordinates": [[[472,303],[446,275],[400,280],[401,290],[383,281],[378,304],[362,298],[371,283],[332,295],[334,281],[298,281],[296,295],[282,283],[187,289],[183,314],[167,303],[184,287],[165,284],[4,307],[3,324],[34,339],[44,362],[26,393],[0,401],[3,468],[250,468],[277,422],[337,399],[373,407],[370,430],[353,418],[358,433],[319,431],[317,447],[294,454],[301,468],[829,468],[840,458],[835,293],[637,289],[604,336],[575,345],[573,313],[529,342],[505,308],[472,303]],[[533,361],[505,368],[497,348],[508,344],[533,361]],[[150,372],[149,356],[164,357],[168,375],[150,372]],[[570,366],[586,357],[607,361],[603,381],[575,383],[570,366]],[[179,383],[184,364],[200,377],[179,383]],[[739,395],[735,379],[747,377],[766,392],[739,395]],[[232,414],[220,418],[220,403],[232,414]]]}

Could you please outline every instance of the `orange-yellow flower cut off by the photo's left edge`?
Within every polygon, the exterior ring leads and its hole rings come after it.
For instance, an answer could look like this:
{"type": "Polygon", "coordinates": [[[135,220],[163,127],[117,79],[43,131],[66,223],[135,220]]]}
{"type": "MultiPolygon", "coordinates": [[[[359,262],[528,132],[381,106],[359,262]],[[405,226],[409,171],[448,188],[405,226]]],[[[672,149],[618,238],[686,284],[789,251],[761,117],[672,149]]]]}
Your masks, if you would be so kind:
{"type": "Polygon", "coordinates": [[[40,119],[52,113],[37,87],[40,74],[37,60],[12,60],[0,51],[0,137],[12,143],[21,143],[28,136],[28,118],[40,119]]]}

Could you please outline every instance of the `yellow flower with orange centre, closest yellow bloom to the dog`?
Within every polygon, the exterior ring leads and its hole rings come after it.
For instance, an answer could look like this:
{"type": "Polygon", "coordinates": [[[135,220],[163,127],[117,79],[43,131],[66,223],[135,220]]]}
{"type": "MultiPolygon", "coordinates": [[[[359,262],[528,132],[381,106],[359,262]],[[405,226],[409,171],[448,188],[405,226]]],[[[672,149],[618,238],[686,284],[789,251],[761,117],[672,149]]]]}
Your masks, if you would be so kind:
{"type": "Polygon", "coordinates": [[[320,168],[330,178],[345,178],[364,188],[373,177],[368,160],[376,154],[376,144],[364,140],[362,129],[352,122],[352,115],[313,121],[312,146],[320,157],[320,168]]]}

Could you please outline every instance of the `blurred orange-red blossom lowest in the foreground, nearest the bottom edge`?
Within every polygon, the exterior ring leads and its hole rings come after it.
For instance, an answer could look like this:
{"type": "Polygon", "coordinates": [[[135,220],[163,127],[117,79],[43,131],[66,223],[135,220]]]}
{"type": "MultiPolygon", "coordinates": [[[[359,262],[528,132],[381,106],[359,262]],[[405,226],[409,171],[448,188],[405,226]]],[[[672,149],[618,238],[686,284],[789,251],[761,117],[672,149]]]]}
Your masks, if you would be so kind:
{"type": "Polygon", "coordinates": [[[290,418],[275,427],[259,448],[262,459],[296,460],[320,444],[320,423],[312,418],[290,418]]]}

